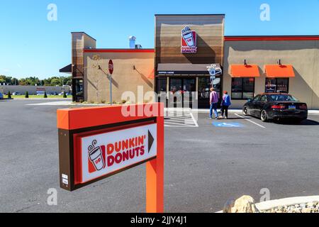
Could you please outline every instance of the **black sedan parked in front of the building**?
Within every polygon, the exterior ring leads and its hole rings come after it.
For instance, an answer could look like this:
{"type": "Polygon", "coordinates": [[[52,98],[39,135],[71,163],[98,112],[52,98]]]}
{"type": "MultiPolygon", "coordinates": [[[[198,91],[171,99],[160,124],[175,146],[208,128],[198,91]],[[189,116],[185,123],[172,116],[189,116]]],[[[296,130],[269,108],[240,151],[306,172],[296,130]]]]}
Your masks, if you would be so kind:
{"type": "Polygon", "coordinates": [[[242,109],[245,116],[251,115],[262,121],[292,118],[298,122],[308,118],[308,106],[290,94],[265,93],[248,100],[242,109]]]}

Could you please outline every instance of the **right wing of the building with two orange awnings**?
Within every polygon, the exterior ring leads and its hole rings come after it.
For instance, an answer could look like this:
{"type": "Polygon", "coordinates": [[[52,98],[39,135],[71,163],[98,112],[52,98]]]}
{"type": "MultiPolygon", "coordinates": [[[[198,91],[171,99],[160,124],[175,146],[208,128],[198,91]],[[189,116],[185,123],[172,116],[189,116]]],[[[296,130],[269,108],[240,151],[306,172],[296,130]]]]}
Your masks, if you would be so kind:
{"type": "Polygon", "coordinates": [[[255,94],[289,92],[319,109],[319,36],[228,36],[223,67],[235,108],[255,94]]]}

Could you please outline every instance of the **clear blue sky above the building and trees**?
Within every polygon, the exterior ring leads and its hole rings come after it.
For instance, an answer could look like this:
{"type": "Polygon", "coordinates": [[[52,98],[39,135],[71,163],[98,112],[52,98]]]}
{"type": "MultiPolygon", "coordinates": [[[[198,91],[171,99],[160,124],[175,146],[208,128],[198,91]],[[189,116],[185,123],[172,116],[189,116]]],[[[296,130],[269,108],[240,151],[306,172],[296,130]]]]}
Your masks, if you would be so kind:
{"type": "Polygon", "coordinates": [[[157,13],[225,13],[225,35],[319,35],[319,0],[1,0],[0,74],[60,75],[71,62],[71,31],[93,36],[98,48],[128,48],[130,35],[154,48],[157,13]],[[57,21],[47,20],[51,3],[57,21]],[[259,18],[262,4],[270,21],[259,18]]]}

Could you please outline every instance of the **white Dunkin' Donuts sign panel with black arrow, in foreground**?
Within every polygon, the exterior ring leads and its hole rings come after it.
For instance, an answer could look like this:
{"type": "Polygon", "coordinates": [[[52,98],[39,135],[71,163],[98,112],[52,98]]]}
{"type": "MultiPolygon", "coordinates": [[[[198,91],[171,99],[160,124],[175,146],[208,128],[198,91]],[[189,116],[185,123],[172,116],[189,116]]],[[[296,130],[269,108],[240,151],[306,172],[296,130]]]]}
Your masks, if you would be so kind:
{"type": "Polygon", "coordinates": [[[82,138],[82,183],[157,156],[157,125],[82,138]]]}

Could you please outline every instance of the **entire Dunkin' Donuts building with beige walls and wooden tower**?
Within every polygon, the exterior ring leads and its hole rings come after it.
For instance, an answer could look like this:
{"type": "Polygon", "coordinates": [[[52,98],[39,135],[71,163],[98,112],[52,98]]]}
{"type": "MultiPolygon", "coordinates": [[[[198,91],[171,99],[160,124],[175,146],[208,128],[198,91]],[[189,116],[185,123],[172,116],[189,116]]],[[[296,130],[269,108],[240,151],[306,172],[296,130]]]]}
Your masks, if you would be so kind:
{"type": "Polygon", "coordinates": [[[223,14],[156,15],[155,49],[96,49],[94,38],[72,33],[74,101],[109,102],[112,59],[117,103],[142,87],[169,107],[208,108],[214,87],[228,91],[233,108],[259,93],[289,92],[319,109],[319,35],[225,36],[224,23],[223,14]]]}

